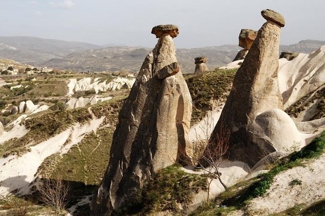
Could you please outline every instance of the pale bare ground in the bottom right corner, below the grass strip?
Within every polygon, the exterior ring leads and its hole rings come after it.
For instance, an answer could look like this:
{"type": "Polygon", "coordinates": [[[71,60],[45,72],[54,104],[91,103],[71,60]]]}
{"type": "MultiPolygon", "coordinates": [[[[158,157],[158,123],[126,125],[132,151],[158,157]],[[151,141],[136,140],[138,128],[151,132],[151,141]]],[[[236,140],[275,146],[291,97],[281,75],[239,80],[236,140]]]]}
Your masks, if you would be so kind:
{"type": "Polygon", "coordinates": [[[325,154],[304,167],[295,167],[279,173],[263,197],[249,202],[248,210],[253,214],[263,213],[256,215],[269,215],[300,203],[309,205],[324,199],[324,176],[325,154]],[[292,185],[292,180],[301,181],[301,185],[292,185]]]}

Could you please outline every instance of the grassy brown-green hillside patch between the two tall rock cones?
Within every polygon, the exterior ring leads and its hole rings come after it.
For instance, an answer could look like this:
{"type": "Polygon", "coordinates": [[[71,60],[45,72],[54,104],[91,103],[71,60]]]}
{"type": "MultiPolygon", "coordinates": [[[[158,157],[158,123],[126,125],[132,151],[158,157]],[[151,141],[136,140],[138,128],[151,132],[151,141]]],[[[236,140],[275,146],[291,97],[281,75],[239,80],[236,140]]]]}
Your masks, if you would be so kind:
{"type": "Polygon", "coordinates": [[[201,120],[209,110],[227,99],[237,69],[215,69],[208,73],[185,77],[191,93],[193,111],[191,124],[201,120]]]}

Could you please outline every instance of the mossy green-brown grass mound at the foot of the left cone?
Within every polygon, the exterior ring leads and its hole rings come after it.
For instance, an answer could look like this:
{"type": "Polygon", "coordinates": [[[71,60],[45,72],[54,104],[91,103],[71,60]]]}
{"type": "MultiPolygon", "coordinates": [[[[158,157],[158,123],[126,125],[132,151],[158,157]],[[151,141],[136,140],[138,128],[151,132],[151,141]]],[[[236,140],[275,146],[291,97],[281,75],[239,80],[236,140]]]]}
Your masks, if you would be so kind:
{"type": "Polygon", "coordinates": [[[179,214],[179,205],[188,206],[193,196],[207,189],[206,179],[200,175],[185,173],[180,165],[172,165],[157,172],[130,204],[119,214],[147,215],[159,211],[179,214]]]}

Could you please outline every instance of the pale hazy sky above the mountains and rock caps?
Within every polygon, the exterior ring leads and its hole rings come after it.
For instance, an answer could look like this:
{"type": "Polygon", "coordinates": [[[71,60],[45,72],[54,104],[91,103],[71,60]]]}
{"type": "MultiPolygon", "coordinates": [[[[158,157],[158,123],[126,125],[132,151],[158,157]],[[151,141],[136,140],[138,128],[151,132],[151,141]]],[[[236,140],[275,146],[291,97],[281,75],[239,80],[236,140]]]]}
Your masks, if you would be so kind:
{"type": "Polygon", "coordinates": [[[237,44],[263,9],[281,13],[281,44],[325,40],[325,0],[0,0],[0,36],[152,47],[151,29],[176,24],[178,48],[237,44]]]}

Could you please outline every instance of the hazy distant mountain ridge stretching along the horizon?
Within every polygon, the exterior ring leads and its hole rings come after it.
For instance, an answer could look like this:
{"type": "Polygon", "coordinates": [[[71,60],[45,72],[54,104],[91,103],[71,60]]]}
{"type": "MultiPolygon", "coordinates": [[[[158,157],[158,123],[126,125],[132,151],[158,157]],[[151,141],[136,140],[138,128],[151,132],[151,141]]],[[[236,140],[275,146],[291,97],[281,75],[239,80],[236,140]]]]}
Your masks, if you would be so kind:
{"type": "MultiPolygon", "coordinates": [[[[138,71],[151,48],[142,46],[97,46],[83,42],[67,42],[36,37],[0,37],[0,58],[21,63],[76,71],[138,71]]],[[[297,44],[281,45],[281,51],[309,53],[325,41],[302,40],[297,44]]],[[[205,55],[210,69],[231,62],[242,48],[237,45],[179,48],[177,57],[182,71],[192,73],[194,58],[205,55]]]]}

